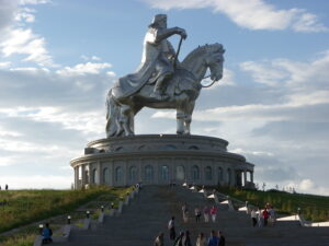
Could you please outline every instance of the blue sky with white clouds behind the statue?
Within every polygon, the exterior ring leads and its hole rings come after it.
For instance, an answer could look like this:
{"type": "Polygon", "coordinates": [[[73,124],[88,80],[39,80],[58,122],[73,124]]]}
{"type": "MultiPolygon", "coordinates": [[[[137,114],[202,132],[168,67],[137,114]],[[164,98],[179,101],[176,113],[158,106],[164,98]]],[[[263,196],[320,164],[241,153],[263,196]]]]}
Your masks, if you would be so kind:
{"type": "MultiPolygon", "coordinates": [[[[192,133],[228,140],[266,188],[329,195],[327,0],[0,0],[0,185],[70,187],[69,161],[105,137],[105,94],[138,67],[157,13],[186,30],[180,59],[226,48],[192,133]]],[[[174,132],[173,110],[136,117],[138,134],[174,132]]]]}

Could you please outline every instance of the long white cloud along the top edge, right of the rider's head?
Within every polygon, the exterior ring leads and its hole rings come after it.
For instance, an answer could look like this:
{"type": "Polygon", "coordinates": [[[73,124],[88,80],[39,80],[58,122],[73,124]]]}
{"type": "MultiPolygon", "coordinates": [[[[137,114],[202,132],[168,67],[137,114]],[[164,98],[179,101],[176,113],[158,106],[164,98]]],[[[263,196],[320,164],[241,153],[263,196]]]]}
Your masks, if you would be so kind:
{"type": "Polygon", "coordinates": [[[211,9],[226,14],[237,25],[250,30],[294,30],[295,32],[327,32],[315,14],[303,9],[277,10],[263,0],[144,0],[152,8],[211,9]]]}

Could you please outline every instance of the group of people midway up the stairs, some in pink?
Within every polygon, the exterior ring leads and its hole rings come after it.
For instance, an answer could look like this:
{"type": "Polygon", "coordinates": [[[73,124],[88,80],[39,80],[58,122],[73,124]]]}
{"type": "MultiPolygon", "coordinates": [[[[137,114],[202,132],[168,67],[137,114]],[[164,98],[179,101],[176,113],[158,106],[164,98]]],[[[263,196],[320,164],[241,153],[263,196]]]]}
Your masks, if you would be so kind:
{"type": "MultiPolygon", "coordinates": [[[[218,212],[218,209],[216,206],[212,206],[211,208],[205,206],[202,210],[198,207],[195,207],[194,208],[195,222],[196,223],[201,222],[201,216],[203,214],[204,222],[206,222],[206,223],[209,222],[209,218],[212,218],[212,221],[215,223],[217,212],[218,212]]],[[[184,203],[182,206],[182,213],[183,213],[183,221],[186,223],[189,221],[189,208],[188,208],[186,203],[184,203]]]]}

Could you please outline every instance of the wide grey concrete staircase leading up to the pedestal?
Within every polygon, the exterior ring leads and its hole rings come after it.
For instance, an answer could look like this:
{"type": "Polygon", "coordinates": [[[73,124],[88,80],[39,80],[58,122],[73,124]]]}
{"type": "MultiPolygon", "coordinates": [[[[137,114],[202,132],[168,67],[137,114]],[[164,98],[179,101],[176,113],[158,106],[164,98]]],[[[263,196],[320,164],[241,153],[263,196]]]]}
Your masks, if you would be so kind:
{"type": "Polygon", "coordinates": [[[73,230],[70,242],[61,246],[148,246],[157,234],[164,232],[164,245],[172,245],[167,230],[168,221],[175,216],[177,234],[189,230],[193,244],[200,232],[206,236],[220,230],[227,246],[329,246],[329,227],[302,227],[297,222],[277,222],[274,227],[252,227],[243,211],[228,211],[219,204],[217,221],[196,223],[194,208],[213,206],[214,199],[203,194],[177,187],[145,186],[120,216],[106,216],[103,224],[94,223],[88,231],[73,230]],[[181,207],[188,203],[190,220],[182,220],[181,207]]]}

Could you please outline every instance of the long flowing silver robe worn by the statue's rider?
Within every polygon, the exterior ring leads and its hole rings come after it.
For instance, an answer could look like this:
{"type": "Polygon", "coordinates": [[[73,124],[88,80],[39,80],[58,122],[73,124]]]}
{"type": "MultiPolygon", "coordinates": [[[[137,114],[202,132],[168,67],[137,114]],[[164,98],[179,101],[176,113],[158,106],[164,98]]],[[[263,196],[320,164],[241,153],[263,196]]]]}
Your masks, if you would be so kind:
{"type": "Polygon", "coordinates": [[[127,97],[140,90],[146,83],[154,83],[161,74],[172,73],[174,50],[166,38],[157,42],[159,30],[150,27],[145,35],[141,62],[135,73],[120,78],[112,89],[116,98],[127,97]]]}

